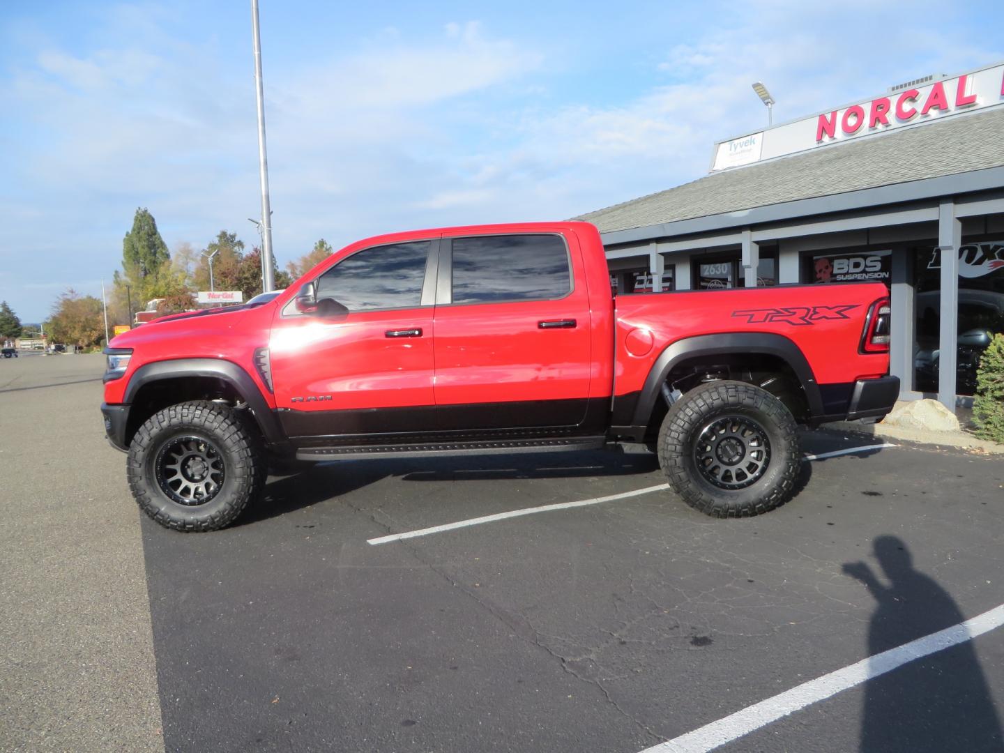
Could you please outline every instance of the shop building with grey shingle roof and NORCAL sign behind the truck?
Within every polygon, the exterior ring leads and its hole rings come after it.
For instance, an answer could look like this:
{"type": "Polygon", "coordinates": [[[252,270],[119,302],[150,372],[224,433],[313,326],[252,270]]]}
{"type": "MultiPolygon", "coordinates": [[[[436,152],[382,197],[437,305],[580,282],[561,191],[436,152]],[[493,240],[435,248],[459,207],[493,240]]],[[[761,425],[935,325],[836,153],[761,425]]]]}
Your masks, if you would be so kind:
{"type": "Polygon", "coordinates": [[[880,280],[901,397],[969,400],[1004,331],[1004,63],[720,142],[711,168],[575,218],[618,294],[880,280]]]}

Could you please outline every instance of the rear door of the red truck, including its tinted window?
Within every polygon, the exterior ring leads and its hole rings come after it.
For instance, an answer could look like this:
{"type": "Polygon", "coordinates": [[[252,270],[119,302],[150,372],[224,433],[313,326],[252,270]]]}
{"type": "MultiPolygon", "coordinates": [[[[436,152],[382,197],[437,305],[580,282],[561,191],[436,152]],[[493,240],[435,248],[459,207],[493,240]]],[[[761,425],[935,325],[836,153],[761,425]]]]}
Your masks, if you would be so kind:
{"type": "Polygon", "coordinates": [[[591,338],[579,253],[559,234],[443,238],[434,346],[441,429],[583,422],[591,338]]]}

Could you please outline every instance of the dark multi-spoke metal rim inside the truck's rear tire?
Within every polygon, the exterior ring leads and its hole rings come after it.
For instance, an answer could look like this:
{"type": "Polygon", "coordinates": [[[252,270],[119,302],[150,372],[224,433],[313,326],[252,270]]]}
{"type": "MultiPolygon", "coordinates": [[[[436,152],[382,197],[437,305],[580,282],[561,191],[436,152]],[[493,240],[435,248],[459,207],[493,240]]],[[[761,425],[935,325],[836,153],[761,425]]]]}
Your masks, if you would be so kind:
{"type": "Polygon", "coordinates": [[[755,484],[770,464],[767,433],[749,416],[714,419],[696,435],[694,463],[714,486],[745,489],[755,484]]]}

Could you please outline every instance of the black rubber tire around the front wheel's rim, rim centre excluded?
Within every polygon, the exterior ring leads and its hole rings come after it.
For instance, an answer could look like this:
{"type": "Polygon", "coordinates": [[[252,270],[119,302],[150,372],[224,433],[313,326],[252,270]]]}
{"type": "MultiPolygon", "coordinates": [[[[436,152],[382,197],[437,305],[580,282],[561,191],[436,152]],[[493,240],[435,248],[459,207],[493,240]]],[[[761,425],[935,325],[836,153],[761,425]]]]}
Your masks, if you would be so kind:
{"type": "Polygon", "coordinates": [[[130,444],[126,467],[140,509],[176,531],[215,531],[230,525],[258,496],[266,478],[257,427],[242,411],[209,401],[180,403],[148,419],[130,444]],[[182,504],[158,480],[159,454],[188,438],[209,443],[223,467],[222,483],[204,503],[182,504]]]}

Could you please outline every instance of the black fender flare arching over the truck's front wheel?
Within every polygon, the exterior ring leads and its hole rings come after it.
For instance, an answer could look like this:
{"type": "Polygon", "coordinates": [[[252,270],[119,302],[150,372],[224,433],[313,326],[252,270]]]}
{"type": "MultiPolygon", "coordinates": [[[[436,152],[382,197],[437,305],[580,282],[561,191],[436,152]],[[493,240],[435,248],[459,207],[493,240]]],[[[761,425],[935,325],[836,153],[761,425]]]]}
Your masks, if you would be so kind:
{"type": "Polygon", "coordinates": [[[173,358],[146,363],[133,372],[122,403],[132,405],[140,391],[148,385],[165,380],[185,379],[188,376],[212,376],[229,384],[248,404],[251,414],[261,430],[262,436],[269,445],[285,443],[286,436],[275,416],[268,407],[254,380],[246,370],[232,360],[220,358],[173,358]]]}

